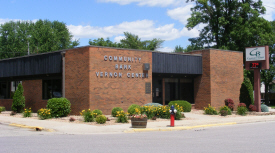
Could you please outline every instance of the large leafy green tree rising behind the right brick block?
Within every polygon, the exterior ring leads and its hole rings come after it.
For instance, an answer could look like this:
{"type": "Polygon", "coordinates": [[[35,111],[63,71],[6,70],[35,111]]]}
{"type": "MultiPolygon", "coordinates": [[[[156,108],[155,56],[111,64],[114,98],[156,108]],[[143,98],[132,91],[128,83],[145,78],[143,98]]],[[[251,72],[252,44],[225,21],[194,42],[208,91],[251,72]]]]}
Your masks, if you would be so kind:
{"type": "Polygon", "coordinates": [[[203,45],[244,51],[245,47],[269,44],[274,38],[270,23],[260,17],[265,13],[261,0],[189,1],[196,5],[186,27],[190,30],[206,24],[197,39],[203,45]]]}

